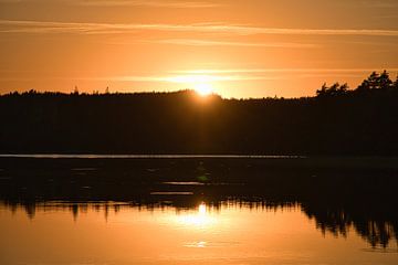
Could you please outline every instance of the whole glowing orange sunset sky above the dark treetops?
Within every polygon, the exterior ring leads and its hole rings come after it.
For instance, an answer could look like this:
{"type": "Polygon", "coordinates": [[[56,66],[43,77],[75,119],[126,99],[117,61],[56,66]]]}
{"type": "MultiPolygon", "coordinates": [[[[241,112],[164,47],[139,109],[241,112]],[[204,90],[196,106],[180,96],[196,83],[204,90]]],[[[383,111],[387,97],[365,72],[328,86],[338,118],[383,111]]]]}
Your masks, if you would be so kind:
{"type": "Polygon", "coordinates": [[[0,0],[0,93],[297,97],[397,59],[396,0],[0,0]]]}

